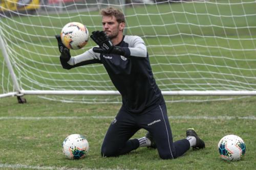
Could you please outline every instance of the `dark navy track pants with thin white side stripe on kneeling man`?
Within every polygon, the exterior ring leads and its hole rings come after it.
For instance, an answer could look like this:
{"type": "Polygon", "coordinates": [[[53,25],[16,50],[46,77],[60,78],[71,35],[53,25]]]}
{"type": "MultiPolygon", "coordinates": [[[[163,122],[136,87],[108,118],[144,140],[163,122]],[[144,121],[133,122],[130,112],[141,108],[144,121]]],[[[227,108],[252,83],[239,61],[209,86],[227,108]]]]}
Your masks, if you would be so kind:
{"type": "Polygon", "coordinates": [[[186,139],[173,142],[166,106],[162,103],[151,111],[141,114],[129,113],[122,107],[106,132],[101,155],[118,156],[137,149],[139,141],[130,138],[141,128],[153,134],[162,159],[177,158],[190,148],[186,139]]]}

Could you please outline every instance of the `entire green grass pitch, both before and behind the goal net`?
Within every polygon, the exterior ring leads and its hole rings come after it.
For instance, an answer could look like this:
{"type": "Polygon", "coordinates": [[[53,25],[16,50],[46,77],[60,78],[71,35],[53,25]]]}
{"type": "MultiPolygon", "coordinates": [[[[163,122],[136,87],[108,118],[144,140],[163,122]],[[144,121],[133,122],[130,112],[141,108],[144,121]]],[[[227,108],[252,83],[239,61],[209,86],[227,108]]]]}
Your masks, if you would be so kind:
{"type": "MultiPolygon", "coordinates": [[[[144,39],[161,90],[256,89],[255,3],[217,2],[126,9],[127,34],[144,39]],[[158,15],[159,12],[162,14],[158,15]]],[[[98,11],[0,18],[20,87],[115,90],[102,65],[61,68],[54,35],[74,20],[86,23],[91,32],[101,29],[98,11]]],[[[84,49],[92,45],[95,44],[89,40],[84,49]]],[[[72,55],[81,52],[71,51],[72,55]]],[[[0,94],[14,91],[2,53],[0,65],[0,94]]],[[[184,138],[186,129],[193,127],[206,143],[204,150],[189,150],[175,160],[161,160],[156,150],[147,148],[116,158],[100,156],[104,134],[120,108],[119,96],[40,97],[25,95],[28,102],[23,105],[17,104],[16,98],[0,98],[0,169],[256,168],[255,96],[236,100],[220,100],[225,97],[219,96],[165,96],[166,101],[182,101],[167,103],[174,140],[184,138]],[[184,102],[188,100],[206,102],[184,102]],[[119,104],[96,104],[100,101],[119,104]],[[62,153],[62,141],[73,133],[85,135],[90,143],[85,159],[68,160],[62,153]],[[226,162],[219,157],[217,144],[227,134],[244,139],[246,155],[241,161],[226,162]]],[[[140,130],[134,137],[145,133],[140,130]]]]}

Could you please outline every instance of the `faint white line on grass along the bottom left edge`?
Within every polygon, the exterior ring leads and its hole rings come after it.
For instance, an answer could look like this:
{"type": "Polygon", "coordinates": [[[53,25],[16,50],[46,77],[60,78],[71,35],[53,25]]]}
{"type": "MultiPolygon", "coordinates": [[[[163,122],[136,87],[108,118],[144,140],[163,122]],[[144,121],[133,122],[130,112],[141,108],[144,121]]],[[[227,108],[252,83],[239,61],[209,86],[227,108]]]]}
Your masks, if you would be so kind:
{"type": "MultiPolygon", "coordinates": [[[[57,167],[57,166],[32,166],[24,164],[7,164],[0,163],[0,168],[12,168],[12,169],[49,169],[49,170],[112,170],[110,168],[69,168],[69,167],[57,167]]],[[[119,169],[119,168],[118,168],[119,169]]],[[[114,170],[114,169],[113,169],[114,170]]]]}

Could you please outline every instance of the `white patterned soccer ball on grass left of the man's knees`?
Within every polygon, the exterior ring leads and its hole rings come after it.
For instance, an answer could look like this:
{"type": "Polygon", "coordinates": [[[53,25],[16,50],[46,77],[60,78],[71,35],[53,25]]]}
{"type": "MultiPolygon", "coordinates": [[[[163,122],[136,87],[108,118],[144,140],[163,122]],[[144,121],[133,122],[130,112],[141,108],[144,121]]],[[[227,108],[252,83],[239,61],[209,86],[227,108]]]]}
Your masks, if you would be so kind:
{"type": "Polygon", "coordinates": [[[81,159],[89,151],[89,143],[83,135],[72,134],[62,143],[62,151],[69,159],[81,159]]]}

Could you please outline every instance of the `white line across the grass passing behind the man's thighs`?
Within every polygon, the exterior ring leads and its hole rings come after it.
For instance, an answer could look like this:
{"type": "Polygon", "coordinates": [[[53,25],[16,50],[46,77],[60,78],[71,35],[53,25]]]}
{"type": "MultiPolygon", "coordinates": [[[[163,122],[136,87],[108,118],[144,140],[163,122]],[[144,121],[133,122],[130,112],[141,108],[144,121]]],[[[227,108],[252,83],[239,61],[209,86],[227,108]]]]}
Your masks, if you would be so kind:
{"type": "MultiPolygon", "coordinates": [[[[112,119],[114,116],[1,116],[3,119],[41,120],[41,119],[112,119]]],[[[168,116],[169,119],[248,119],[256,120],[256,116],[168,116]]]]}

